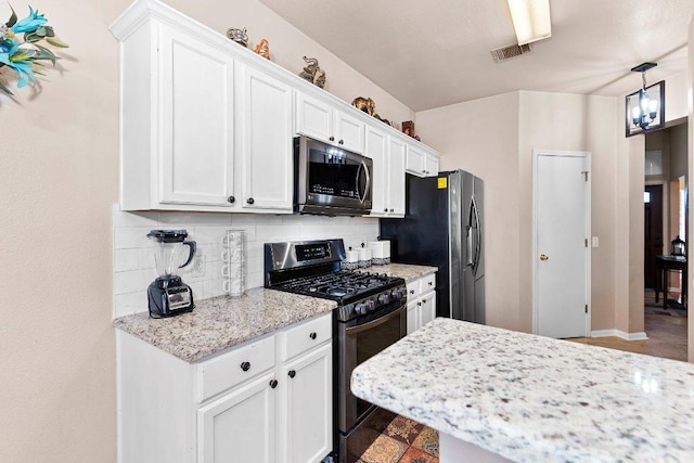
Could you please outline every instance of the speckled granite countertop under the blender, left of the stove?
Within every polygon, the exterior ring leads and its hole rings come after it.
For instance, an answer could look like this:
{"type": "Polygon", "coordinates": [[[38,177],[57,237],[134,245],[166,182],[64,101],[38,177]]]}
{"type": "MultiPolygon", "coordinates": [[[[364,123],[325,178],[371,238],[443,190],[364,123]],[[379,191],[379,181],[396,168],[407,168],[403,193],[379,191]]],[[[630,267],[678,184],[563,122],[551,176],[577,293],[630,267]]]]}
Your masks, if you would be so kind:
{"type": "Polygon", "coordinates": [[[190,313],[152,319],[149,312],[114,320],[115,327],[185,360],[198,362],[246,340],[327,313],[334,300],[257,287],[244,296],[195,301],[190,313]]]}

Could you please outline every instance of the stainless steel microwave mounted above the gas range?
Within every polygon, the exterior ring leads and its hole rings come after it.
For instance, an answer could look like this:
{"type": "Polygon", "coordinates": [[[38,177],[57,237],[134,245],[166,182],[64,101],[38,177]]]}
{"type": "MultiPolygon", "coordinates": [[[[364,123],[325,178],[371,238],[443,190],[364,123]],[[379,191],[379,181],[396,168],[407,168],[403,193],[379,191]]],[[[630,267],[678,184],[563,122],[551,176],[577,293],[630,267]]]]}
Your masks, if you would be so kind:
{"type": "Polygon", "coordinates": [[[297,137],[294,160],[296,213],[361,216],[371,211],[371,158],[308,137],[297,137]]]}

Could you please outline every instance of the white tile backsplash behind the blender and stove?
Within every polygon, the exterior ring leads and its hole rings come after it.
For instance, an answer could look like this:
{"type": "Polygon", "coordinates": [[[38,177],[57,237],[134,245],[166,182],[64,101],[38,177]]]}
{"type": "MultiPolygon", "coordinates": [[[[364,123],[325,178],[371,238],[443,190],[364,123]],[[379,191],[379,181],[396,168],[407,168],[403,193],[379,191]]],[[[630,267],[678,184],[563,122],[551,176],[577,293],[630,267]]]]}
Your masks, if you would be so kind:
{"type": "Polygon", "coordinates": [[[184,229],[197,243],[204,271],[194,274],[192,266],[181,269],[181,278],[193,290],[195,299],[224,294],[221,274],[221,236],[227,230],[246,232],[246,288],[264,284],[265,243],[336,239],[345,247],[359,247],[378,235],[378,219],[265,214],[213,213],[126,213],[113,207],[114,317],[147,311],[146,288],[156,279],[155,244],[146,237],[153,229],[184,229]]]}

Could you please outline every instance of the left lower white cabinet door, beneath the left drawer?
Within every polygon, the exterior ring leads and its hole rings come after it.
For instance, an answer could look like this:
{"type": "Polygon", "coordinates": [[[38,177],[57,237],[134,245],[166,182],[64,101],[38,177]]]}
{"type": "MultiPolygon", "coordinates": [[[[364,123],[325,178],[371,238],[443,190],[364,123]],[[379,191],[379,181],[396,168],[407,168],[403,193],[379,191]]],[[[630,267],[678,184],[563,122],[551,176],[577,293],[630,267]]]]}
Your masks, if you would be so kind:
{"type": "Polygon", "coordinates": [[[197,412],[198,461],[203,463],[274,462],[274,376],[249,385],[197,412]]]}

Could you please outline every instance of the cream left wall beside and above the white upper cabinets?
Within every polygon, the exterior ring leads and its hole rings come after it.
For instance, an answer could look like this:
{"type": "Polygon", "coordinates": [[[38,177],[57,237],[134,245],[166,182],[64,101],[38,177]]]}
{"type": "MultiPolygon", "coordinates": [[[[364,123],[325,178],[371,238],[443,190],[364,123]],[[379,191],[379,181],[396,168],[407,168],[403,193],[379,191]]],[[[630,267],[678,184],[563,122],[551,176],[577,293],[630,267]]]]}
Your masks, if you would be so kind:
{"type": "MultiPolygon", "coordinates": [[[[0,461],[116,460],[112,205],[118,198],[118,44],[108,25],[128,0],[31,1],[70,48],[42,91],[0,98],[0,461]]],[[[317,56],[327,90],[413,113],[257,0],[170,1],[223,34],[247,27],[298,73],[317,56]]],[[[20,17],[26,3],[13,7],[20,17]]],[[[0,5],[0,21],[10,17],[0,5]]],[[[11,83],[14,88],[14,83],[11,83]]]]}

